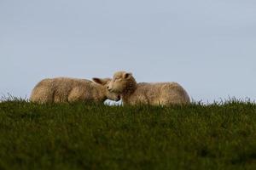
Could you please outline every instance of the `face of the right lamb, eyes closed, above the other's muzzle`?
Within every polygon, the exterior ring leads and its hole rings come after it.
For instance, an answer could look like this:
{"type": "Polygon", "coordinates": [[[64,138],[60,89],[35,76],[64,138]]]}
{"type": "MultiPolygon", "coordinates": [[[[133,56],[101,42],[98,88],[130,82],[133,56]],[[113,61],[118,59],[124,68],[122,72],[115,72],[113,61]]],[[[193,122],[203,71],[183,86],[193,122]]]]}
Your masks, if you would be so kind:
{"type": "Polygon", "coordinates": [[[131,73],[125,71],[116,72],[109,83],[108,90],[113,93],[123,94],[131,81],[131,73]]]}

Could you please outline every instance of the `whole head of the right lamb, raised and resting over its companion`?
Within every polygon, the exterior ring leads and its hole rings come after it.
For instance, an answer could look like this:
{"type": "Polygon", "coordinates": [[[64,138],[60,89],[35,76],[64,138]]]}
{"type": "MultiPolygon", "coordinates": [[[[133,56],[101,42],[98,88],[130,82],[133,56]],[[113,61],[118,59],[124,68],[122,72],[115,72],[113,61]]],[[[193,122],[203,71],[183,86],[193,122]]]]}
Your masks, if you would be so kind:
{"type": "Polygon", "coordinates": [[[118,71],[113,75],[108,90],[117,94],[128,94],[134,91],[136,84],[137,82],[130,72],[118,71]]]}

